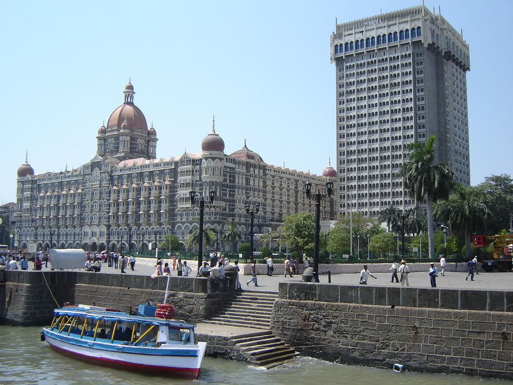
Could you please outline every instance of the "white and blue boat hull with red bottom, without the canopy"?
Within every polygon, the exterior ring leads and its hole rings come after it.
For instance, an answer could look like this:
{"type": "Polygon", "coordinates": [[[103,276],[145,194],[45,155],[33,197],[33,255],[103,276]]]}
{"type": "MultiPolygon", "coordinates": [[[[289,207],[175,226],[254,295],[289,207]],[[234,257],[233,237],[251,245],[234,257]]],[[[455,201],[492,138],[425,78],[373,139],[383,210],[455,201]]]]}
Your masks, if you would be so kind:
{"type": "Polygon", "coordinates": [[[64,336],[46,328],[43,332],[50,346],[66,356],[121,370],[188,379],[198,378],[206,349],[206,343],[199,342],[195,349],[187,345],[177,345],[170,349],[140,348],[140,352],[125,353],[121,350],[126,347],[120,347],[120,351],[104,350],[101,349],[102,345],[110,349],[117,347],[113,344],[109,346],[107,343],[64,336]],[[80,340],[81,344],[77,344],[79,341],[76,340],[80,340]],[[84,342],[93,346],[86,346],[84,342]],[[189,355],[186,355],[187,352],[189,355]]]}

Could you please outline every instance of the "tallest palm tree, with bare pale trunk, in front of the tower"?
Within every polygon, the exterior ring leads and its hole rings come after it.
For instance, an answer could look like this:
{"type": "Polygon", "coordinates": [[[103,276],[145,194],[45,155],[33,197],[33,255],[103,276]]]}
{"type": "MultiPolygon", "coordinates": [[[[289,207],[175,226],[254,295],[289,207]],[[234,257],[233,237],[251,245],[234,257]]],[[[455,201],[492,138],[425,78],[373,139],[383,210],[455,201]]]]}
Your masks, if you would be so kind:
{"type": "Polygon", "coordinates": [[[431,135],[425,145],[420,142],[408,143],[407,161],[401,166],[399,175],[404,177],[404,186],[410,197],[417,201],[427,200],[427,232],[429,257],[435,257],[435,235],[433,232],[433,203],[449,198],[449,191],[455,172],[443,163],[435,162],[435,141],[431,135]]]}

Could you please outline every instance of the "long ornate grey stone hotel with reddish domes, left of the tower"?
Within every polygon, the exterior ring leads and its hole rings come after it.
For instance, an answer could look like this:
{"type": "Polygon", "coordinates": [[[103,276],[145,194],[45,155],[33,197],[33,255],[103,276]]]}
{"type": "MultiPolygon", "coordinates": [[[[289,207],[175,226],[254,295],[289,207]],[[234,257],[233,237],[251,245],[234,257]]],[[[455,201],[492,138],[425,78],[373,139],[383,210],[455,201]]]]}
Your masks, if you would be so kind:
{"type": "MultiPolygon", "coordinates": [[[[213,189],[214,204],[205,208],[205,226],[222,233],[233,222],[242,238],[226,242],[219,236],[217,247],[234,251],[250,237],[246,204],[260,204],[254,234],[274,231],[287,214],[314,212],[313,201],[304,194],[305,182],[322,188],[326,177],[337,176],[331,166],[318,176],[267,164],[246,141],[227,155],[214,118],[200,152],[157,158],[156,130],[153,124],[148,129],[143,112],[134,105],[131,82],[123,94],[124,103],[94,131],[97,148],[90,162],[40,175],[34,175],[27,160],[18,168],[15,246],[145,251],[155,247],[155,235],[160,241],[172,233],[185,247],[200,215],[198,207],[191,207],[189,192],[194,189],[207,199],[213,189]]],[[[335,219],[335,200],[322,202],[323,220],[335,219]]],[[[255,236],[256,247],[258,242],[255,236]]]]}

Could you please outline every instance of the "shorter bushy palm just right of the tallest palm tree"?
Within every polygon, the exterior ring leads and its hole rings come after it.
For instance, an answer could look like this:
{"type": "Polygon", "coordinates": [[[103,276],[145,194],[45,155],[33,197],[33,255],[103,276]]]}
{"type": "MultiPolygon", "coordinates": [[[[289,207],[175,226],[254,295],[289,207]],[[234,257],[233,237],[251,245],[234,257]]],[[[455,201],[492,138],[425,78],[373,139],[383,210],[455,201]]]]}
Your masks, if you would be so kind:
{"type": "Polygon", "coordinates": [[[438,202],[434,209],[437,218],[448,223],[454,231],[465,234],[465,249],[470,258],[472,232],[484,229],[489,214],[483,191],[456,183],[449,200],[438,202]]]}

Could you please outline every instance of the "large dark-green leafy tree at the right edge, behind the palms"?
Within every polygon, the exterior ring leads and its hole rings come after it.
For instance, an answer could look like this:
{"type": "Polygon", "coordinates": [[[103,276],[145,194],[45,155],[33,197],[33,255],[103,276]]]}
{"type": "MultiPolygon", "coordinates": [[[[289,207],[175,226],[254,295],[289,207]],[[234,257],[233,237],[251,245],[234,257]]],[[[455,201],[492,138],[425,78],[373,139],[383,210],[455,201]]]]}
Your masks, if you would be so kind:
{"type": "Polygon", "coordinates": [[[513,216],[513,179],[508,174],[492,175],[478,185],[484,193],[484,203],[490,215],[486,218],[486,234],[495,235],[509,229],[513,216]]]}

